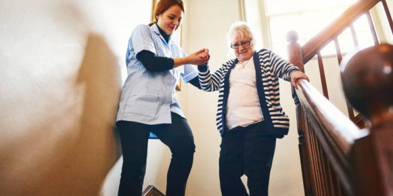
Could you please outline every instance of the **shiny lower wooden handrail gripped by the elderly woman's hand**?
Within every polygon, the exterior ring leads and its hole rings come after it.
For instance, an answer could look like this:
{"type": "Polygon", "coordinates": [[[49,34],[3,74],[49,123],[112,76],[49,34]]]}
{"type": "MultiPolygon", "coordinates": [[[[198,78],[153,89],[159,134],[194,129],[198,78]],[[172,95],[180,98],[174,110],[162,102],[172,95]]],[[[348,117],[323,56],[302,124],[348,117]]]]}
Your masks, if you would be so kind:
{"type": "Polygon", "coordinates": [[[365,137],[368,131],[359,129],[307,80],[301,79],[297,84],[296,94],[308,120],[313,124],[322,149],[333,163],[332,167],[346,192],[353,193],[348,156],[355,141],[365,137]]]}

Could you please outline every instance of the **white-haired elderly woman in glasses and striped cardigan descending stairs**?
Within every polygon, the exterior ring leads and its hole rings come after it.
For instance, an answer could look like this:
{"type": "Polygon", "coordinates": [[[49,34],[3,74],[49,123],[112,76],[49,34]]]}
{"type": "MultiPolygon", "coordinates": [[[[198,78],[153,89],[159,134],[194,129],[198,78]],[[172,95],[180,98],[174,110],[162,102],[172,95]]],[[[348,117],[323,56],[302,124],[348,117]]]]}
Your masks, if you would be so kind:
{"type": "Polygon", "coordinates": [[[223,196],[248,196],[240,179],[248,177],[251,196],[267,196],[276,138],[288,133],[280,105],[279,77],[296,87],[308,77],[268,49],[254,50],[251,28],[238,22],[227,34],[235,59],[210,73],[198,66],[204,91],[219,91],[217,128],[221,133],[220,186],[223,196]]]}

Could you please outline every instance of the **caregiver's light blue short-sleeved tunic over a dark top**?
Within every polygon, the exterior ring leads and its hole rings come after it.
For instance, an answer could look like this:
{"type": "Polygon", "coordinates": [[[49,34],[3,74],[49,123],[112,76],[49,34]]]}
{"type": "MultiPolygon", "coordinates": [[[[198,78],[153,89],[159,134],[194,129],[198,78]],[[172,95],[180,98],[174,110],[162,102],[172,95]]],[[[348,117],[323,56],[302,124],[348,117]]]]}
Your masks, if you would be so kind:
{"type": "MultiPolygon", "coordinates": [[[[185,57],[182,48],[171,39],[168,43],[160,34],[157,25],[139,25],[128,43],[126,63],[127,79],[121,91],[116,121],[132,121],[144,124],[171,123],[170,112],[184,117],[174,97],[179,76],[185,82],[198,75],[192,65],[184,66],[184,73],[176,69],[150,72],[137,60],[137,54],[149,50],[157,56],[170,58],[185,57]]],[[[158,65],[159,66],[159,65],[158,65]]]]}

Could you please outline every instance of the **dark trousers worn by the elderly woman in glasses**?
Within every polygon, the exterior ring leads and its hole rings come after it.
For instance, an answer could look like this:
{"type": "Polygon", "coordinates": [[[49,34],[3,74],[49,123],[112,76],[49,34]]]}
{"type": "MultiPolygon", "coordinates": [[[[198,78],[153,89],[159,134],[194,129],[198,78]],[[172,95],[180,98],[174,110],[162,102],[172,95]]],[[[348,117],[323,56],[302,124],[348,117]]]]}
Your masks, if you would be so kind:
{"type": "Polygon", "coordinates": [[[220,151],[220,186],[223,196],[248,196],[240,177],[246,174],[250,196],[267,196],[276,137],[264,123],[235,127],[224,133],[220,151]]]}

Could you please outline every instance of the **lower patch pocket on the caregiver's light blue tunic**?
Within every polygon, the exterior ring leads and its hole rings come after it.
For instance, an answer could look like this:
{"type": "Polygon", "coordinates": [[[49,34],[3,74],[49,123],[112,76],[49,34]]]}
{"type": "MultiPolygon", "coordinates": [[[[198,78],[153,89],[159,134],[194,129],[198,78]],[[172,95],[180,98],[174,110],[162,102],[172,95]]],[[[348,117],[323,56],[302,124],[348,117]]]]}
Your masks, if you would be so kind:
{"type": "Polygon", "coordinates": [[[124,113],[155,117],[158,110],[158,94],[138,93],[128,97],[124,113]]]}

